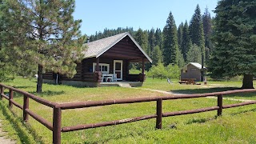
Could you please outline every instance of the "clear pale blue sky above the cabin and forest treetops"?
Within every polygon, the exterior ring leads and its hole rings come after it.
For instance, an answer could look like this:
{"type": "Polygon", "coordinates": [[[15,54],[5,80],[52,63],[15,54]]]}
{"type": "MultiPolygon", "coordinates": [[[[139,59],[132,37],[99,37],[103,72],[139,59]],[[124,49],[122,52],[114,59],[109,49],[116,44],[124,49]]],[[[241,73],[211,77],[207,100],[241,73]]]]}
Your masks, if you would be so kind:
{"type": "Polygon", "coordinates": [[[206,6],[211,16],[218,0],[76,0],[74,19],[82,19],[82,34],[95,34],[105,28],[134,27],[134,30],[162,28],[170,11],[178,26],[190,22],[197,4],[201,14],[206,6]]]}

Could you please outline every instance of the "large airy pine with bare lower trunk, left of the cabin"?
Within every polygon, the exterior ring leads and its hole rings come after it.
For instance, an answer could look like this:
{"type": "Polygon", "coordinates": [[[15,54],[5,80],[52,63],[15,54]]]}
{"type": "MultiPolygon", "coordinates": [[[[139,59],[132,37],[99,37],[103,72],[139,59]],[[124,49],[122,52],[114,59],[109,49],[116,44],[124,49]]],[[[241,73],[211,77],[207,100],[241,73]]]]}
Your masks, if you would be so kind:
{"type": "Polygon", "coordinates": [[[66,74],[76,73],[75,62],[82,60],[85,37],[79,28],[81,20],[74,20],[74,0],[6,1],[6,54],[15,66],[33,71],[38,67],[37,92],[42,92],[42,73],[52,70],[66,74]],[[11,31],[8,31],[11,30],[11,31]]]}

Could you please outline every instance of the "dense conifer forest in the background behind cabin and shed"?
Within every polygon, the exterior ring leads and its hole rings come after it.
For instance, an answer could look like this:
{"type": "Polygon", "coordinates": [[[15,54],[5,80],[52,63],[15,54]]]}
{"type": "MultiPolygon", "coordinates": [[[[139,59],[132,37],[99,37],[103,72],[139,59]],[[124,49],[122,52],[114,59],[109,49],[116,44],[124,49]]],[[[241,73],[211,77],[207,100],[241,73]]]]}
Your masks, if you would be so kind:
{"type": "MultiPolygon", "coordinates": [[[[170,12],[166,20],[166,26],[152,28],[151,30],[134,30],[133,27],[118,27],[117,29],[105,29],[88,36],[90,42],[110,37],[115,34],[129,32],[138,42],[142,49],[153,59],[152,64],[146,65],[146,70],[150,67],[163,63],[164,66],[178,65],[185,66],[188,62],[202,63],[202,56],[207,65],[211,51],[213,50],[210,34],[212,34],[213,18],[206,8],[201,14],[199,6],[194,10],[190,22],[181,23],[176,26],[174,16],[170,12]]],[[[140,69],[140,65],[135,65],[140,69]]]]}

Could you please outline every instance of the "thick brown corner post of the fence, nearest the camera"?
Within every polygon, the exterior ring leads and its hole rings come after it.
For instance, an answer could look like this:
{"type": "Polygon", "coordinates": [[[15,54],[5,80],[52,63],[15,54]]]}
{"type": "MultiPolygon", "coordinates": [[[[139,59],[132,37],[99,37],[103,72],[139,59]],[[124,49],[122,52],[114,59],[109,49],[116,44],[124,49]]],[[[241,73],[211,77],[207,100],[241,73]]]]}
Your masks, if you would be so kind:
{"type": "Polygon", "coordinates": [[[61,144],[62,140],[62,109],[54,108],[54,131],[53,131],[53,143],[61,144]]]}

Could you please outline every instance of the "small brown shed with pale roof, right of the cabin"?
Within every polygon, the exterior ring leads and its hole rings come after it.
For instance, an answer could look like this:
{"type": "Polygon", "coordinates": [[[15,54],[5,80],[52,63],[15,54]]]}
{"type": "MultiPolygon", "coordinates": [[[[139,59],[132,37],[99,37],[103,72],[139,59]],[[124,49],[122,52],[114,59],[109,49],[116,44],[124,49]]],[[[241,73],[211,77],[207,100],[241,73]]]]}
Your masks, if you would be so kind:
{"type": "Polygon", "coordinates": [[[182,67],[181,70],[181,79],[184,78],[194,78],[195,82],[201,82],[201,71],[203,71],[203,81],[206,80],[206,67],[197,63],[197,62],[190,62],[186,66],[182,67]]]}

